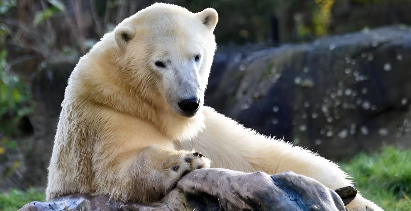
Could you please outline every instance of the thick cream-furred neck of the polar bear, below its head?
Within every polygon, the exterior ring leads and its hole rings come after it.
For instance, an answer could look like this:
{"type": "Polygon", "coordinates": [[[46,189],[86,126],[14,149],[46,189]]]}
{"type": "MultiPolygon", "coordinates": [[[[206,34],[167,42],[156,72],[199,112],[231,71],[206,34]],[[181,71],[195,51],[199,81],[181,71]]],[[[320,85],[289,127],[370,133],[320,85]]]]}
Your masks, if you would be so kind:
{"type": "MultiPolygon", "coordinates": [[[[107,38],[107,35],[104,38],[107,38]]],[[[107,45],[107,42],[104,42],[105,46],[99,45],[100,43],[102,42],[97,43],[84,59],[81,59],[93,62],[80,61],[70,77],[70,80],[79,86],[77,90],[83,93],[81,95],[87,95],[82,97],[83,99],[87,98],[97,104],[139,118],[173,141],[191,140],[204,128],[202,109],[192,118],[178,116],[156,88],[152,87],[154,84],[150,83],[146,76],[119,76],[121,67],[113,60],[116,57],[113,55],[116,52],[113,50],[115,47],[107,45]],[[134,80],[133,83],[141,86],[130,87],[127,85],[130,81],[127,80],[134,80]]]]}

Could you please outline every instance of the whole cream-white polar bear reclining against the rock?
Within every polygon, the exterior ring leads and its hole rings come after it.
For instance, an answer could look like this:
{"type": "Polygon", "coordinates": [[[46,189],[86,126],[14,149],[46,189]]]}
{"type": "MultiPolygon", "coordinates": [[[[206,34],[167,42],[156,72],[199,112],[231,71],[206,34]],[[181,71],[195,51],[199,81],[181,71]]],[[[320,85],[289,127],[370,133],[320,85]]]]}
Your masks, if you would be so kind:
{"type": "MultiPolygon", "coordinates": [[[[47,199],[80,192],[161,199],[183,174],[219,167],[292,170],[336,190],[337,165],[205,107],[217,12],[156,3],[122,21],[80,60],[65,91],[47,199]]],[[[381,211],[357,195],[350,211],[381,211]]]]}

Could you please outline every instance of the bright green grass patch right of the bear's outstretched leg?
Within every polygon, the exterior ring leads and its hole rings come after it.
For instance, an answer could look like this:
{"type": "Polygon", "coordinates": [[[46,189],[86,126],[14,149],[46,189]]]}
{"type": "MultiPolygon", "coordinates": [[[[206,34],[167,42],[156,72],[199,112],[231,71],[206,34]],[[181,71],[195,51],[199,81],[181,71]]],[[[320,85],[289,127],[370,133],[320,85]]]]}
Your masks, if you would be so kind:
{"type": "Polygon", "coordinates": [[[411,150],[385,147],[360,153],[341,165],[364,196],[390,211],[411,211],[411,150]]]}

